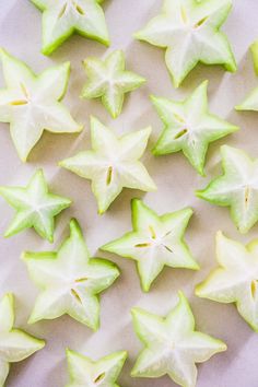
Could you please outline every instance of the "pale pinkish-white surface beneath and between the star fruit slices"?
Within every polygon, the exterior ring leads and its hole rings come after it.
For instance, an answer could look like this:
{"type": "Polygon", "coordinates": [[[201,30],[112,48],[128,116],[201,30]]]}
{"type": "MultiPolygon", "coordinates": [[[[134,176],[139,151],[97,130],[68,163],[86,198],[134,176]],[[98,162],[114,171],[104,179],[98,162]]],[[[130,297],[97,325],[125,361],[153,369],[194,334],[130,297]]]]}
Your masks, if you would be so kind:
{"type": "MultiPolygon", "coordinates": [[[[73,199],[73,206],[63,211],[57,221],[55,244],[40,239],[32,230],[11,239],[0,237],[0,293],[12,291],[16,298],[16,326],[45,338],[47,345],[26,361],[13,365],[7,385],[10,387],[61,387],[68,380],[64,349],[67,347],[98,359],[113,351],[128,350],[129,359],[119,384],[122,387],[168,387],[175,386],[168,377],[160,379],[131,379],[129,374],[141,343],[133,333],[130,308],[141,306],[150,312],[166,315],[177,302],[177,291],[183,290],[190,300],[196,316],[197,328],[224,340],[228,350],[213,356],[199,366],[199,387],[257,387],[258,386],[258,336],[239,317],[234,305],[223,305],[194,295],[195,285],[206,278],[215,266],[214,235],[222,230],[232,238],[247,243],[258,236],[258,226],[248,235],[239,235],[230,220],[227,209],[213,207],[195,198],[195,189],[202,188],[211,177],[220,173],[220,145],[224,142],[239,146],[258,156],[258,114],[235,113],[250,87],[257,85],[251,58],[247,49],[258,37],[257,0],[233,0],[234,9],[223,30],[232,42],[238,63],[236,74],[230,74],[220,67],[198,66],[184,85],[176,91],[164,64],[162,49],[133,42],[132,33],[154,16],[161,0],[106,0],[104,9],[112,37],[112,46],[106,49],[101,44],[73,36],[50,58],[40,54],[40,12],[26,0],[1,0],[0,45],[11,54],[25,60],[36,72],[46,67],[72,62],[69,91],[64,99],[79,122],[85,125],[79,136],[45,133],[33,150],[27,164],[22,164],[10,139],[8,125],[0,125],[0,185],[26,185],[37,167],[43,167],[56,194],[73,199]],[[89,55],[103,56],[106,51],[121,48],[127,56],[127,67],[148,79],[146,85],[127,98],[124,112],[112,120],[99,101],[81,101],[80,91],[85,74],[81,61],[89,55]],[[202,80],[209,79],[211,112],[242,130],[210,146],[207,163],[207,178],[197,176],[183,154],[154,159],[150,149],[156,140],[162,124],[152,107],[149,95],[183,98],[202,80]],[[57,166],[58,161],[90,148],[89,117],[95,115],[116,133],[137,130],[149,125],[153,127],[145,165],[157,184],[157,192],[143,195],[124,190],[110,210],[96,214],[95,199],[89,181],[57,166]],[[144,200],[159,213],[169,212],[191,206],[195,215],[190,221],[186,238],[201,265],[199,272],[166,268],[153,284],[149,294],[140,290],[134,262],[116,256],[97,253],[104,243],[120,236],[131,228],[130,199],[144,200]],[[101,298],[101,329],[93,333],[90,329],[64,316],[52,321],[42,321],[27,326],[26,320],[34,305],[37,290],[30,281],[26,268],[20,259],[21,251],[54,249],[68,235],[68,222],[75,216],[86,236],[92,255],[108,257],[121,270],[117,282],[101,298]]],[[[4,85],[0,75],[0,85],[4,85]]],[[[13,210],[1,199],[0,233],[3,234],[11,221],[13,210]]]]}

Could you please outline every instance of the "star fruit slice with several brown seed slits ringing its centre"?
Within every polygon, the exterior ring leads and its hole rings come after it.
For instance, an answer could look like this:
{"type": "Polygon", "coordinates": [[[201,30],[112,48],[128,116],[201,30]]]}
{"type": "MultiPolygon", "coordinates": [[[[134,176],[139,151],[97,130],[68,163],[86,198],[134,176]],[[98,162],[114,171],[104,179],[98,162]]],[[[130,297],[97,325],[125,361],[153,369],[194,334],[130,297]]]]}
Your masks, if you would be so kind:
{"type": "Polygon", "coordinates": [[[102,247],[137,261],[142,290],[148,292],[164,266],[198,270],[184,233],[192,210],[186,208],[159,216],[141,200],[131,202],[133,231],[102,247]]]}

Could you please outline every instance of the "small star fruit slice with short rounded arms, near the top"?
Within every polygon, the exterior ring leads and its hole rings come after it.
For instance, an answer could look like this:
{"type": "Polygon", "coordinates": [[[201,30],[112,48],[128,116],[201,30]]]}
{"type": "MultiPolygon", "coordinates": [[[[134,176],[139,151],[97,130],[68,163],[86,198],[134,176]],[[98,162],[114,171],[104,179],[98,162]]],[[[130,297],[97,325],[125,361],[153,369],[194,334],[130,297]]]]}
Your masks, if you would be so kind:
{"type": "Polygon", "coordinates": [[[125,94],[140,87],[144,78],[125,70],[125,55],[121,50],[109,54],[104,59],[87,58],[83,62],[87,82],[82,90],[83,98],[102,98],[113,118],[122,109],[125,94]]]}

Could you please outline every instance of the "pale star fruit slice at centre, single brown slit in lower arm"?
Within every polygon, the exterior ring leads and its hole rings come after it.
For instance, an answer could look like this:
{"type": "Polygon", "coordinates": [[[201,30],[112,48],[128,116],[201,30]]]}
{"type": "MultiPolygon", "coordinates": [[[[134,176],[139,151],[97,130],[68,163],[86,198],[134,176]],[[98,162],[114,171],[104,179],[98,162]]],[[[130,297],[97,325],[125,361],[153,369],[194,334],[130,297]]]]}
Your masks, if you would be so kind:
{"type": "Polygon", "coordinates": [[[98,212],[104,213],[124,187],[152,191],[156,186],[139,161],[146,148],[151,128],[118,138],[96,118],[91,118],[92,150],[80,152],[60,165],[92,180],[98,212]]]}

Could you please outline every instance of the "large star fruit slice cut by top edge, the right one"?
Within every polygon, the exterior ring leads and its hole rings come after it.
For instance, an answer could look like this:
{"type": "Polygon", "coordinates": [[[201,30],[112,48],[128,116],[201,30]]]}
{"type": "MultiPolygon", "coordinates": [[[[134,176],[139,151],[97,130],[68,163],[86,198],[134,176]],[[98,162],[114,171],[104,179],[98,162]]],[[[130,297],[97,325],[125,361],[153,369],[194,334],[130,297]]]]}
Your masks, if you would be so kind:
{"type": "Polygon", "coordinates": [[[231,45],[221,26],[231,0],[165,0],[160,15],[134,34],[139,40],[166,49],[165,61],[175,87],[198,62],[236,71],[231,45]]]}

